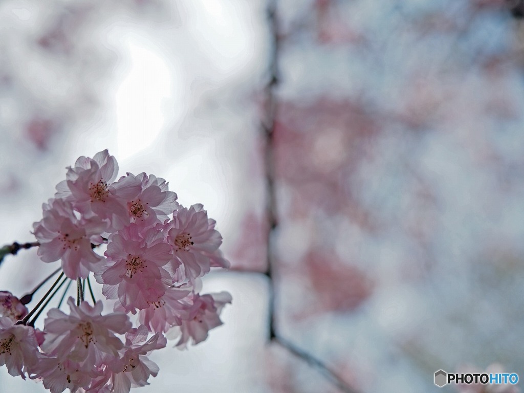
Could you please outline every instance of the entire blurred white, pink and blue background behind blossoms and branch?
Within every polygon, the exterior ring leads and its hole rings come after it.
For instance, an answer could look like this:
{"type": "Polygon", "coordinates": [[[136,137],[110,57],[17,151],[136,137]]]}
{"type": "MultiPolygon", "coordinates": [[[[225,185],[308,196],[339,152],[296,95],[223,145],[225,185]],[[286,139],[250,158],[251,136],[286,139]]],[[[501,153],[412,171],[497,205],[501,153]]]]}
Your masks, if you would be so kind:
{"type": "MultiPolygon", "coordinates": [[[[276,332],[355,391],[524,378],[521,2],[278,0],[276,28],[267,7],[2,0],[0,243],[32,241],[65,167],[108,148],[203,203],[232,263],[204,280],[233,294],[225,324],[138,391],[339,391],[269,341],[272,294],[276,332]]],[[[54,267],[21,250],[0,289],[54,267]]],[[[45,389],[0,369],[19,391],[45,389]]]]}

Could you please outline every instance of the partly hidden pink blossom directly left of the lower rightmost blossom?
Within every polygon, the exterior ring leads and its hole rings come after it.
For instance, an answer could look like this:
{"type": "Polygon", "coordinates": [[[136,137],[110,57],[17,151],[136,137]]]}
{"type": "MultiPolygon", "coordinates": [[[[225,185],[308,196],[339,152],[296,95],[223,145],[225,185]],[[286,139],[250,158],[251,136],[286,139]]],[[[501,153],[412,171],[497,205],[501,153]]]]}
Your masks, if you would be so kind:
{"type": "Polygon", "coordinates": [[[166,332],[172,326],[182,324],[189,318],[192,299],[187,299],[190,290],[169,287],[161,297],[149,302],[149,307],[138,312],[138,320],[152,332],[166,332]]]}

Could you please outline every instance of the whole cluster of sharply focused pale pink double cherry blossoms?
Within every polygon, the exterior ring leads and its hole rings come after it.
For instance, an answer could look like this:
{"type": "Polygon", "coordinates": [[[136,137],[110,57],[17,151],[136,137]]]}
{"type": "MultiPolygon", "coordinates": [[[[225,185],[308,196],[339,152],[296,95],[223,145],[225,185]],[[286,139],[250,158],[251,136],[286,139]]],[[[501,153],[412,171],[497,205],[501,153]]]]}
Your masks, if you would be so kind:
{"type": "Polygon", "coordinates": [[[148,385],[158,373],[151,351],[165,347],[166,337],[179,348],[205,340],[231,303],[227,292],[199,293],[212,267],[229,267],[203,206],[181,206],[164,179],[127,173],[116,180],[117,172],[107,150],[80,157],[33,225],[40,259],[60,260],[60,277],[77,281],[69,313],[51,309],[40,331],[34,328],[39,313],[30,317],[42,302],[28,312],[24,302],[0,292],[0,366],[41,380],[52,393],[127,393],[148,385]],[[104,255],[97,253],[101,244],[107,244],[104,255]],[[93,295],[93,305],[84,300],[90,275],[114,300],[112,313],[103,315],[93,295]]]}

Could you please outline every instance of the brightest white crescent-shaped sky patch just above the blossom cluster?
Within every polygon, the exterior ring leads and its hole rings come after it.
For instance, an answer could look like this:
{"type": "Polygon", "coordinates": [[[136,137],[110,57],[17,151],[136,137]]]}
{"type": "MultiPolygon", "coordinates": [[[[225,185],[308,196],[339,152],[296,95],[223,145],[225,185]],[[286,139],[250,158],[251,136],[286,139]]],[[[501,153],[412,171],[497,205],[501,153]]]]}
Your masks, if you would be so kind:
{"type": "Polygon", "coordinates": [[[128,70],[115,95],[119,160],[153,145],[176,107],[172,64],[138,35],[123,44],[128,70]]]}

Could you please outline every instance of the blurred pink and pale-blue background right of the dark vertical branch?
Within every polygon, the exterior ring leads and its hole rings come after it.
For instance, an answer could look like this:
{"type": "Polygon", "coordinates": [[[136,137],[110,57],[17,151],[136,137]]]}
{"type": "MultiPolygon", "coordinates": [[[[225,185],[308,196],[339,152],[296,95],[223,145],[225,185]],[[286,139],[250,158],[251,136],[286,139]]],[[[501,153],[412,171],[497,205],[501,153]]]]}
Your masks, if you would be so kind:
{"type": "MultiPolygon", "coordinates": [[[[508,4],[279,11],[282,334],[362,391],[519,370],[524,86],[508,4]]],[[[315,378],[277,391],[318,391],[315,378]]]]}

